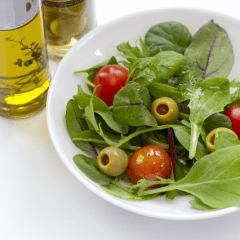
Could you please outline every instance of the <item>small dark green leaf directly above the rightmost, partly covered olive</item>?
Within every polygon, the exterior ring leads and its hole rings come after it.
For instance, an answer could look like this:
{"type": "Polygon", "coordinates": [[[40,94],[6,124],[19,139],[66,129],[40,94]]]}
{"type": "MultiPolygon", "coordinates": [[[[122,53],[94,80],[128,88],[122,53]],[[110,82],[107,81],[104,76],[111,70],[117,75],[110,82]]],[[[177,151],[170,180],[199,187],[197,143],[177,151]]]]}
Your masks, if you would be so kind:
{"type": "Polygon", "coordinates": [[[226,115],[222,113],[214,113],[211,116],[207,117],[203,123],[205,130],[210,133],[215,128],[225,127],[232,128],[232,122],[226,115]]]}

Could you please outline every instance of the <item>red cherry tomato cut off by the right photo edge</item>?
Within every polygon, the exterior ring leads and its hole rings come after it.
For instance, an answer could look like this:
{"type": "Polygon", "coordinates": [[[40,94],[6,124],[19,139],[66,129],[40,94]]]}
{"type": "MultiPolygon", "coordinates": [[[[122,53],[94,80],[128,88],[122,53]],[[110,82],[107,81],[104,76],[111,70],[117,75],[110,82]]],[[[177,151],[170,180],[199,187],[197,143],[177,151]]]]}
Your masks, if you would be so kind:
{"type": "Polygon", "coordinates": [[[240,139],[240,104],[230,107],[225,115],[228,116],[232,122],[232,130],[238,135],[240,139]]]}

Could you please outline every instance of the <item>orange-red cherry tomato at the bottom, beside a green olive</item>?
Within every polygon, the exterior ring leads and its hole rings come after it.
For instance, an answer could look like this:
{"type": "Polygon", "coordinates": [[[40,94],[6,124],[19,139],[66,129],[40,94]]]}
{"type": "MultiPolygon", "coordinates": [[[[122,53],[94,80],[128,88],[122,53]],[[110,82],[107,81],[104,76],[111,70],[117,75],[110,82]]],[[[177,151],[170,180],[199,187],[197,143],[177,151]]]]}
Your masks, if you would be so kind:
{"type": "Polygon", "coordinates": [[[137,183],[142,178],[156,181],[156,175],[166,179],[171,170],[172,161],[168,153],[159,146],[148,145],[133,153],[128,162],[127,173],[137,183]]]}

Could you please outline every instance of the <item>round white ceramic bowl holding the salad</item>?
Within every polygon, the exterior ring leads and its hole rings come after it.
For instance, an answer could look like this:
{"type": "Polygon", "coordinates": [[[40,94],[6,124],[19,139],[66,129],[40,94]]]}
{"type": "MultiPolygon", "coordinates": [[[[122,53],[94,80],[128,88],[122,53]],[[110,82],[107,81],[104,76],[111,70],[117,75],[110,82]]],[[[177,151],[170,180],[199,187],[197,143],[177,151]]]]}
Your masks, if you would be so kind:
{"type": "Polygon", "coordinates": [[[239,74],[240,66],[240,21],[230,16],[199,9],[158,9],[133,14],[97,27],[81,38],[66,54],[52,80],[47,102],[47,121],[53,144],[63,163],[70,172],[87,188],[98,196],[123,209],[161,219],[196,220],[225,215],[238,208],[204,212],[194,210],[189,204],[190,197],[177,197],[170,201],[163,197],[157,199],[131,202],[118,199],[104,192],[98,184],[83,174],[73,162],[73,156],[81,150],[72,143],[66,125],[66,104],[77,93],[81,84],[87,91],[85,74],[74,74],[75,70],[90,68],[109,59],[119,52],[116,46],[129,41],[135,45],[139,36],[144,39],[147,30],[160,22],[179,21],[194,34],[203,24],[213,19],[228,33],[235,54],[235,64],[229,79],[239,74]]]}

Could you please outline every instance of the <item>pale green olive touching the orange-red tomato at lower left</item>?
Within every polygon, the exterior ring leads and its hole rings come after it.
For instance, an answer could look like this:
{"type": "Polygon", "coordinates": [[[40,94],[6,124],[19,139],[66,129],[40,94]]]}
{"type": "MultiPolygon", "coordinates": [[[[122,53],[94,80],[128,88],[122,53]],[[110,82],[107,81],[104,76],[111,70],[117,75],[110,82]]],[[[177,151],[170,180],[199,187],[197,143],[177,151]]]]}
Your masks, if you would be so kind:
{"type": "Polygon", "coordinates": [[[98,168],[108,176],[122,174],[128,166],[128,156],[120,148],[104,148],[97,157],[98,168]]]}

